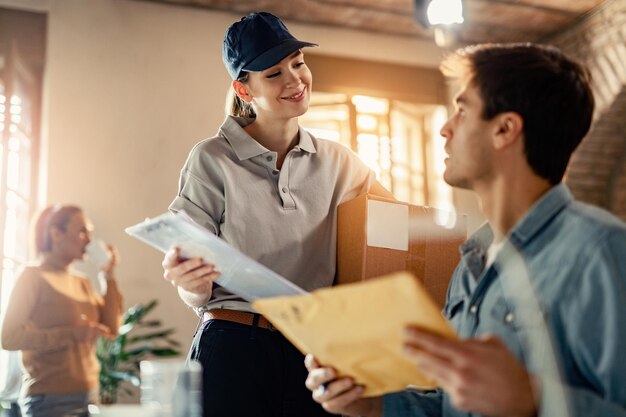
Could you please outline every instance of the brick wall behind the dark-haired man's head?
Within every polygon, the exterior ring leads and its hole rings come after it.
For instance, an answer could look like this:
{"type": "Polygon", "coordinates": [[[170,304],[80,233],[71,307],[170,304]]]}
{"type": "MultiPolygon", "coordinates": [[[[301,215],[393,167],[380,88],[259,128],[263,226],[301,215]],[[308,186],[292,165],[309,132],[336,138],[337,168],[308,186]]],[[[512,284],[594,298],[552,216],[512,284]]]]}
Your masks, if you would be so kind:
{"type": "Polygon", "coordinates": [[[591,71],[596,114],[572,156],[566,183],[580,200],[626,220],[626,0],[607,0],[548,39],[591,71]]]}

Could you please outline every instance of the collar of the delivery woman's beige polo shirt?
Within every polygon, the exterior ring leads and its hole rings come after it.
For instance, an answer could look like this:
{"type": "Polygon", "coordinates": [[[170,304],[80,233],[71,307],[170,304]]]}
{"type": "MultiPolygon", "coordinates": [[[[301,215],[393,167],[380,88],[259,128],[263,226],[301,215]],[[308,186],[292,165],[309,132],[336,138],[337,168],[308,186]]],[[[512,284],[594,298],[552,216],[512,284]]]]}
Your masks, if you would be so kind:
{"type": "MultiPolygon", "coordinates": [[[[243,129],[253,121],[254,119],[228,116],[220,127],[220,136],[226,138],[240,161],[271,152],[265,146],[254,140],[254,138],[248,135],[248,133],[243,129]]],[[[298,129],[300,141],[294,149],[303,150],[309,153],[316,153],[317,150],[315,149],[315,144],[313,143],[313,139],[311,138],[309,132],[304,130],[302,127],[298,127],[298,129]]]]}

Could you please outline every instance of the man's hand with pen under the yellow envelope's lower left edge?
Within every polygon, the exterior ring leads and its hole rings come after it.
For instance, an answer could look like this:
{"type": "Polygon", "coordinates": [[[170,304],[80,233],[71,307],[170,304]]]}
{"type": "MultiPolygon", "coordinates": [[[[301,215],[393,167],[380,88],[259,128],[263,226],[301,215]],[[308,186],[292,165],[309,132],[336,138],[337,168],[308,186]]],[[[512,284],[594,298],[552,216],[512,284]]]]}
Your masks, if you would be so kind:
{"type": "Polygon", "coordinates": [[[324,410],[346,416],[380,417],[382,398],[362,398],[364,388],[356,385],[351,378],[337,378],[333,368],[322,367],[309,354],[304,359],[309,370],[306,387],[313,393],[313,400],[324,410]]]}

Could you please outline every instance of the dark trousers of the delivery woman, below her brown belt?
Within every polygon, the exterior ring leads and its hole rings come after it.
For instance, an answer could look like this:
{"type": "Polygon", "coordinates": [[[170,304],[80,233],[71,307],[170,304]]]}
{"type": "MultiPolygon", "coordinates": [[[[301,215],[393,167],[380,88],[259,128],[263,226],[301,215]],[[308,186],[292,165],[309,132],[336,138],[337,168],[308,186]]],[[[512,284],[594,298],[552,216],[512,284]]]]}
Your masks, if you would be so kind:
{"type": "Polygon", "coordinates": [[[276,330],[209,320],[190,358],[203,367],[204,417],[327,417],[304,386],[304,356],[276,330]]]}

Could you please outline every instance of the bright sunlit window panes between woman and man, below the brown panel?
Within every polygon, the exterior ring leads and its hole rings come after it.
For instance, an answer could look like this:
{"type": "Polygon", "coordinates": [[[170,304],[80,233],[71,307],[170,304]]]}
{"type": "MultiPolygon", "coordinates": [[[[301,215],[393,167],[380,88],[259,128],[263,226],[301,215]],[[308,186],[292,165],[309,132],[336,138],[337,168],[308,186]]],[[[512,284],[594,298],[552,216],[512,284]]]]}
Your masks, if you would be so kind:
{"type": "Polygon", "coordinates": [[[314,92],[300,123],[318,138],[351,148],[399,200],[451,209],[439,136],[445,118],[439,105],[314,92]]]}

